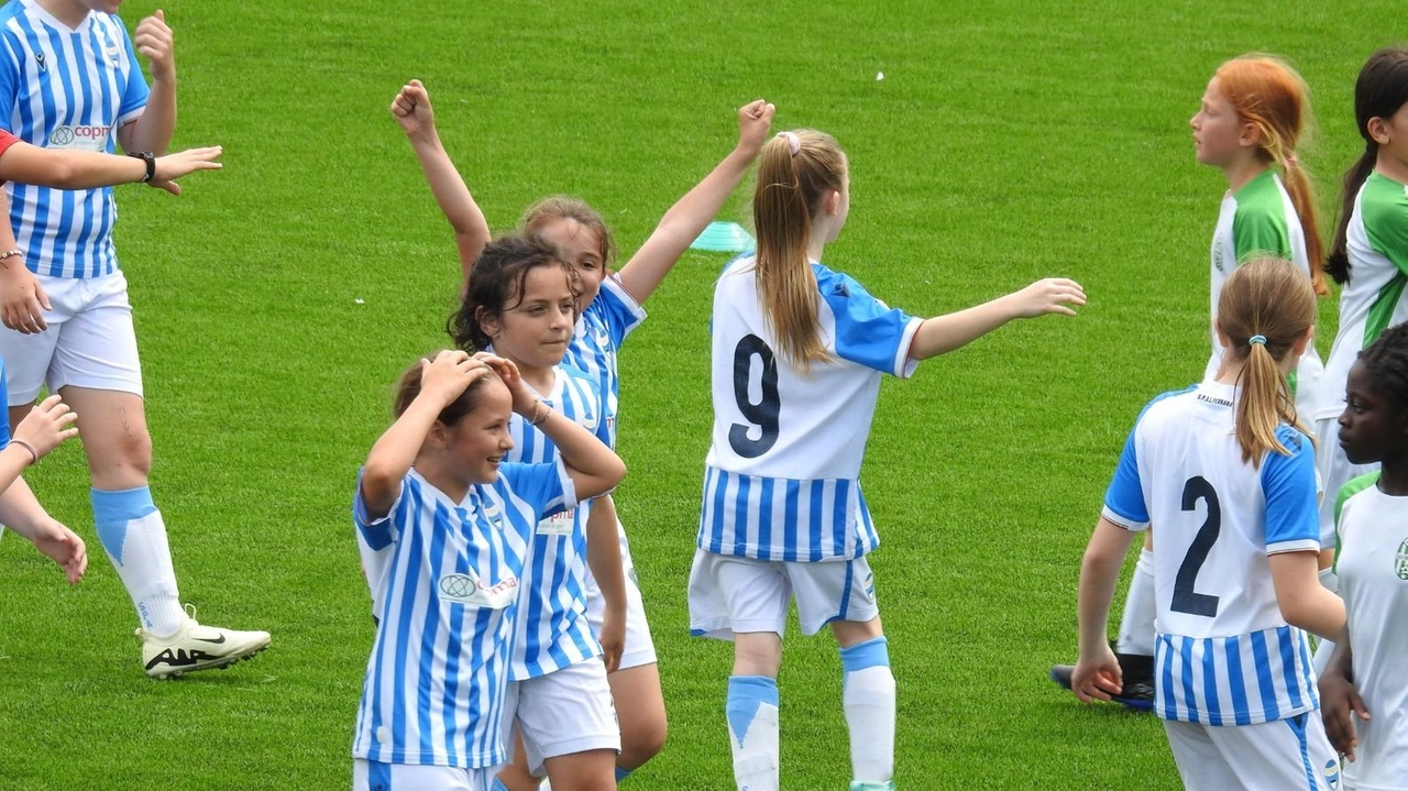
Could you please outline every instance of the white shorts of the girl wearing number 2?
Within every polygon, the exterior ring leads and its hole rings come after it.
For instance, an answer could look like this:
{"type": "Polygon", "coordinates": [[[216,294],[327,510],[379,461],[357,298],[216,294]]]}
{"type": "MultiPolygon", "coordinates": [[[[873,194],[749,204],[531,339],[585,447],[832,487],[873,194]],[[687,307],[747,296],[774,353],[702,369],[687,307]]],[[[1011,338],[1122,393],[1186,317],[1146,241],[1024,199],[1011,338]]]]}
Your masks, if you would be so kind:
{"type": "Polygon", "coordinates": [[[1316,709],[1256,725],[1163,721],[1190,791],[1340,788],[1339,756],[1316,709]]]}

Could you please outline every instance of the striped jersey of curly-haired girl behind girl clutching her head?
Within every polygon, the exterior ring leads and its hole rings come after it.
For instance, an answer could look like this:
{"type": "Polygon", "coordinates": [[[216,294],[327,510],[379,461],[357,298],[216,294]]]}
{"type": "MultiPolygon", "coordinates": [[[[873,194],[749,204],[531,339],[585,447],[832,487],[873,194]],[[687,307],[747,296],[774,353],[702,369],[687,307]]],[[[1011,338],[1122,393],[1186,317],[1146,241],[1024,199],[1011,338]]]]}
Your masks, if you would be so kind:
{"type": "MultiPolygon", "coordinates": [[[[555,369],[552,391],[542,400],[610,445],[596,381],[569,366],[555,369]]],[[[558,448],[518,414],[508,424],[514,449],[505,460],[556,462],[558,448]]],[[[536,678],[601,654],[587,622],[586,559],[590,501],[541,522],[524,567],[518,594],[518,636],[510,681],[536,678]]]]}

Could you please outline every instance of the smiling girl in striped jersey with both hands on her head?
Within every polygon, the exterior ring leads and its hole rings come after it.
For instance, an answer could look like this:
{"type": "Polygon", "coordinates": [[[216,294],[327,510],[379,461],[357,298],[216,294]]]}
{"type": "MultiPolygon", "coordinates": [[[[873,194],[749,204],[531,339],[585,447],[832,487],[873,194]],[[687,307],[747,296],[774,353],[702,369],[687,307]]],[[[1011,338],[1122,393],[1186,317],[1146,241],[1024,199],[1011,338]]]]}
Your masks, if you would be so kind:
{"type": "Polygon", "coordinates": [[[610,491],[625,466],[491,355],[421,360],[401,379],[396,412],[353,501],[360,538],[383,560],[369,576],[380,612],[353,788],[490,791],[507,759],[508,657],[534,526],[610,491]],[[513,414],[559,457],[505,462],[513,414]]]}

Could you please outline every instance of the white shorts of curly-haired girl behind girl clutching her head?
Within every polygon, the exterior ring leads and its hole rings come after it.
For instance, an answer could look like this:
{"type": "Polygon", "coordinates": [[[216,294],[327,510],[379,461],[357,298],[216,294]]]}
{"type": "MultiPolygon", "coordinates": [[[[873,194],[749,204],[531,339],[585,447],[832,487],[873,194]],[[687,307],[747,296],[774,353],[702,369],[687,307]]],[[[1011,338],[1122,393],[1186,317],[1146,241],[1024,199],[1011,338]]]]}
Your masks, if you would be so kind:
{"type": "Polygon", "coordinates": [[[528,771],[546,774],[545,761],[587,750],[621,752],[621,726],[601,657],[546,676],[515,681],[514,725],[524,740],[528,771]]]}

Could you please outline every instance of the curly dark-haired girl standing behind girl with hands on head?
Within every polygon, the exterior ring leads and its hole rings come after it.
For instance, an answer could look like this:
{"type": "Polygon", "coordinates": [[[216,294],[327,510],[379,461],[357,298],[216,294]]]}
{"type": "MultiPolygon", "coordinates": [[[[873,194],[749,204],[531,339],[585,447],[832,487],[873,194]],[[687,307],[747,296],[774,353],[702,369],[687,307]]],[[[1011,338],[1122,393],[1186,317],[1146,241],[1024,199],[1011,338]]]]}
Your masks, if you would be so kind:
{"type": "MultiPolygon", "coordinates": [[[[541,239],[507,236],[474,262],[449,331],[463,349],[491,349],[514,362],[545,404],[610,443],[596,381],[562,362],[576,321],[576,270],[541,239]]],[[[552,441],[521,418],[510,421],[510,434],[508,462],[558,457],[552,441]]],[[[625,580],[615,519],[593,515],[593,502],[574,505],[538,522],[529,539],[508,667],[517,709],[505,721],[505,732],[517,726],[521,749],[501,773],[507,788],[536,788],[545,770],[558,791],[615,788],[621,732],[607,670],[620,662],[625,635],[620,619],[615,632],[603,632],[601,645],[591,633],[587,563],[617,612],[625,609],[625,580]]]]}

